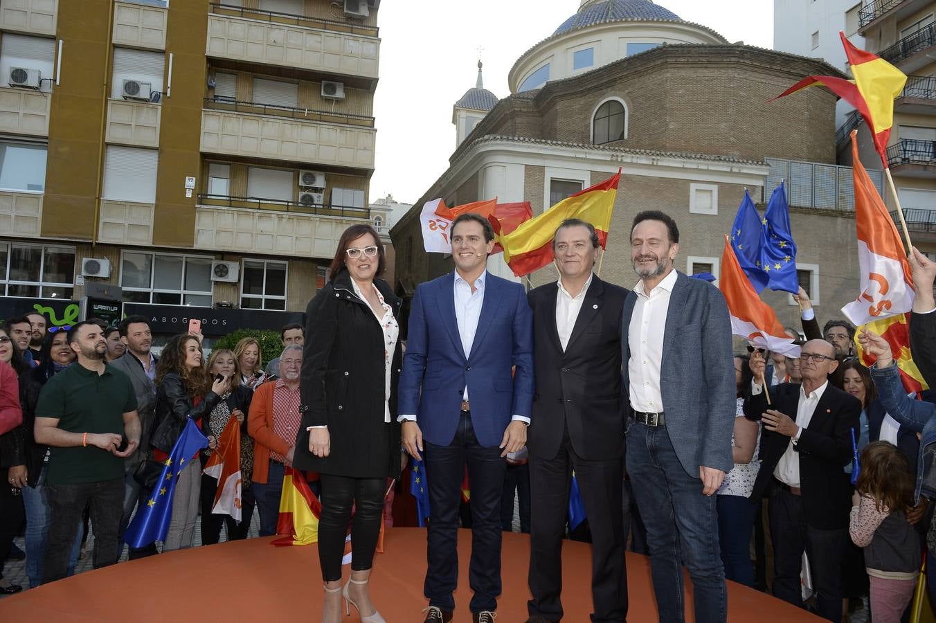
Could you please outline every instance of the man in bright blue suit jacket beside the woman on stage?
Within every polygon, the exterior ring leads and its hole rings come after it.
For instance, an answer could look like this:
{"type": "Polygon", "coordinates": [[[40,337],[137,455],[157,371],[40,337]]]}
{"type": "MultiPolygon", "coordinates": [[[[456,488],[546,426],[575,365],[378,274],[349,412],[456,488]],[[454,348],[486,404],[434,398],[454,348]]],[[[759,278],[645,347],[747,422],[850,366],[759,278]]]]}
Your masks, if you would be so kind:
{"type": "Polygon", "coordinates": [[[493,623],[501,594],[505,456],[526,442],[533,403],[533,314],[519,283],[490,275],[490,224],[461,214],[449,230],[455,271],[417,287],[399,386],[406,451],[429,482],[426,623],[452,620],[465,466],[471,486],[470,608],[493,623]]]}

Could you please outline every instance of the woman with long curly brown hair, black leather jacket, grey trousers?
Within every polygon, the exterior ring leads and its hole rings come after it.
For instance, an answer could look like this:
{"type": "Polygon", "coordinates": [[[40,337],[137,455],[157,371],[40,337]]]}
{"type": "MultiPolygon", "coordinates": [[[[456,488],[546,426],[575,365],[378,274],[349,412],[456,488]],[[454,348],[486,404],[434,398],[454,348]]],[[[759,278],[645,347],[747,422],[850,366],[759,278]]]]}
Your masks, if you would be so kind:
{"type": "MultiPolygon", "coordinates": [[[[201,343],[190,335],[177,335],[168,341],[156,365],[156,409],[154,440],[160,435],[160,427],[165,426],[168,418],[184,426],[191,417],[198,427],[205,413],[221,400],[221,396],[230,388],[230,380],[211,381],[203,364],[201,343]],[[211,387],[206,391],[207,387],[211,387]]],[[[179,430],[182,427],[178,428],[179,430]]],[[[154,459],[164,461],[168,458],[165,451],[171,450],[171,443],[162,449],[154,450],[154,459]]],[[[214,448],[215,442],[209,444],[214,448]]],[[[195,536],[195,520],[198,516],[198,496],[201,492],[201,461],[196,456],[188,457],[188,467],[178,476],[172,497],[172,517],[169,520],[168,534],[163,543],[163,551],[187,549],[192,546],[195,536]]]]}

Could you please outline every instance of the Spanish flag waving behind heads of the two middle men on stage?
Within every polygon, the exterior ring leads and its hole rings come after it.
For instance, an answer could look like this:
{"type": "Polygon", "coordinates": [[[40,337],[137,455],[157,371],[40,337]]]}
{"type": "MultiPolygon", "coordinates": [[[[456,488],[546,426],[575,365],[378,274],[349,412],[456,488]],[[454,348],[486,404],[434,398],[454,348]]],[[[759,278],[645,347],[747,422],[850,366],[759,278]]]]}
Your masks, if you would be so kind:
{"type": "Polygon", "coordinates": [[[495,216],[489,217],[494,227],[494,239],[504,247],[504,261],[518,277],[543,268],[552,261],[552,238],[566,219],[581,219],[594,225],[602,249],[607,245],[607,232],[611,228],[614,199],[618,195],[621,169],[599,184],[564,198],[552,208],[512,232],[495,216]]]}

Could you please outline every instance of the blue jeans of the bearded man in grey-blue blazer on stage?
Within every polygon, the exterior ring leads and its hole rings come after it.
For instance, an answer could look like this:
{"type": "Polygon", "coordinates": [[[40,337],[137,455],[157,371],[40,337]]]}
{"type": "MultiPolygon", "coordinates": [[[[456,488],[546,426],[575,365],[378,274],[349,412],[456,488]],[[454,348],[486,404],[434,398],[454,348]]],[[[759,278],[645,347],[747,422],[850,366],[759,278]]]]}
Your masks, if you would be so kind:
{"type": "Polygon", "coordinates": [[[682,468],[665,427],[632,422],[627,430],[627,473],[650,547],[653,592],[660,620],[684,620],[684,561],[692,578],[696,623],[727,618],[727,590],[718,544],[715,496],[702,495],[697,474],[682,468]],[[680,555],[681,554],[681,555],[680,555]]]}

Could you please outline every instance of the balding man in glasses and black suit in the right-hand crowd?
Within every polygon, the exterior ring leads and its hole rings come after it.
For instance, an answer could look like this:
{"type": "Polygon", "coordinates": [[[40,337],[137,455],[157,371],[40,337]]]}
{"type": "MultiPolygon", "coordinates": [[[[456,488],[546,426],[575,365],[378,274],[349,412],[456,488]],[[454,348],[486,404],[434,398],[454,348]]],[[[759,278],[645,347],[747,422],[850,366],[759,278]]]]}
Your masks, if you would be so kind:
{"type": "Polygon", "coordinates": [[[841,557],[848,543],[851,489],[842,468],[852,458],[852,429],[861,401],[828,383],[839,366],[826,340],[802,347],[802,384],[764,391],[764,358],[754,353],[751,396],[744,414],[761,420],[761,468],[750,500],[770,490],[774,596],[802,607],[799,572],[805,551],[817,593],[816,614],[841,620],[841,557]]]}

